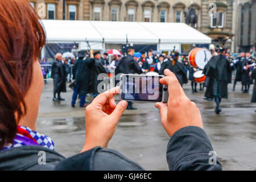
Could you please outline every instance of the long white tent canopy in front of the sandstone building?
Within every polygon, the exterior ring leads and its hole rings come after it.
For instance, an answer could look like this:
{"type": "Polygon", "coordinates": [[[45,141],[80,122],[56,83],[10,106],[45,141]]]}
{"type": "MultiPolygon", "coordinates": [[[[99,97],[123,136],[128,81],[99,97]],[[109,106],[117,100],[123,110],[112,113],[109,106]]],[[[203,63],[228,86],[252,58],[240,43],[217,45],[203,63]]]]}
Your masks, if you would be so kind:
{"type": "Polygon", "coordinates": [[[181,44],[209,44],[211,38],[185,23],[106,22],[83,20],[42,20],[48,43],[86,40],[94,49],[104,49],[105,43],[158,44],[160,50],[180,49],[181,44]],[[178,47],[179,46],[179,47],[178,47]]]}

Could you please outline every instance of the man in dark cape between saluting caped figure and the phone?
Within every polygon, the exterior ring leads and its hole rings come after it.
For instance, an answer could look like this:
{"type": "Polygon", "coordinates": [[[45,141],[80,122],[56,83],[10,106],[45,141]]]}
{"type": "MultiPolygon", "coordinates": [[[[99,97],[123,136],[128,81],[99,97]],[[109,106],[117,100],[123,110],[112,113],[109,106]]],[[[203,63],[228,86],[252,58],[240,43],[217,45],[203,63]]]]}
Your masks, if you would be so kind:
{"type": "Polygon", "coordinates": [[[98,92],[98,84],[102,80],[98,80],[98,75],[101,73],[105,73],[106,76],[108,76],[108,73],[106,72],[106,69],[101,63],[101,54],[100,52],[94,52],[94,64],[91,64],[89,69],[90,69],[90,93],[93,94],[94,97],[96,97],[99,92],[98,92]]]}

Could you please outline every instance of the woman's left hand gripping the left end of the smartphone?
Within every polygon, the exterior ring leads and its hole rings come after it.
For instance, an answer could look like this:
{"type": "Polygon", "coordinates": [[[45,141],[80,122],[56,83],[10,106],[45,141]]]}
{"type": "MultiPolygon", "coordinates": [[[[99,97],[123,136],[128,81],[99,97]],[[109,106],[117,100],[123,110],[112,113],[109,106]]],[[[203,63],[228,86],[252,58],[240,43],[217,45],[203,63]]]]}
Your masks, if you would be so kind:
{"type": "Polygon", "coordinates": [[[108,147],[121,115],[127,107],[127,101],[115,104],[114,95],[119,86],[98,95],[85,109],[85,144],[81,152],[94,147],[108,147]]]}

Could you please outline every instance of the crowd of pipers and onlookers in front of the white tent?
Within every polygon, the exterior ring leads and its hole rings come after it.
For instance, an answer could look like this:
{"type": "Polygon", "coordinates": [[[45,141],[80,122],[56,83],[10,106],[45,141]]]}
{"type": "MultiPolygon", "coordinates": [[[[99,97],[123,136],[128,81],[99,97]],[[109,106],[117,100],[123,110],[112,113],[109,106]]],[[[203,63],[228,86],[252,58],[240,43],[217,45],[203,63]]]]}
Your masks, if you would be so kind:
{"type": "MultiPolygon", "coordinates": [[[[55,60],[52,63],[51,77],[54,82],[53,101],[63,101],[60,97],[61,92],[66,92],[65,81],[73,81],[73,97],[71,106],[75,107],[77,96],[80,98],[80,107],[86,107],[86,94],[93,94],[94,98],[99,94],[97,86],[99,80],[97,77],[100,73],[108,74],[109,69],[115,70],[115,75],[118,73],[144,73],[156,72],[159,75],[164,75],[164,69],[172,71],[181,86],[191,82],[192,93],[199,92],[197,85],[200,85],[200,91],[205,90],[205,100],[216,102],[216,114],[221,112],[220,102],[222,98],[228,98],[228,84],[233,82],[233,91],[236,88],[238,81],[242,83],[242,92],[249,93],[250,85],[255,79],[255,57],[249,52],[241,52],[239,56],[232,55],[222,47],[214,47],[210,49],[212,53],[211,59],[205,65],[203,73],[206,76],[205,80],[197,82],[194,73],[199,71],[199,68],[193,67],[188,61],[186,55],[180,55],[179,52],[173,51],[170,55],[153,54],[150,49],[148,52],[135,52],[133,47],[127,49],[127,56],[114,55],[113,59],[109,60],[108,53],[100,52],[90,53],[79,51],[76,55],[77,59],[70,57],[61,57],[57,53],[55,60]],[[57,96],[56,96],[57,94],[57,96]]],[[[40,61],[44,78],[49,73],[47,59],[44,57],[40,61]]],[[[46,79],[45,79],[46,80],[46,79]]],[[[254,86],[255,87],[255,86],[254,86]]],[[[251,102],[256,102],[255,88],[251,102]]],[[[127,109],[137,109],[133,107],[133,103],[129,102],[127,109]]]]}

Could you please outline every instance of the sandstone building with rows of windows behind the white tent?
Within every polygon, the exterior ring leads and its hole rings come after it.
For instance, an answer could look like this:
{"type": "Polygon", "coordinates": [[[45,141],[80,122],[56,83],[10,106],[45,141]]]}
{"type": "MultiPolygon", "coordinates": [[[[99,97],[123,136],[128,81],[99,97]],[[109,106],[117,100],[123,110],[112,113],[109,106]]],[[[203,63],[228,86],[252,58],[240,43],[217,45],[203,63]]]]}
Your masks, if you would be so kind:
{"type": "MultiPolygon", "coordinates": [[[[36,10],[45,3],[46,19],[63,19],[63,0],[30,0],[36,10]]],[[[197,14],[195,28],[231,49],[233,0],[65,0],[65,19],[186,22],[185,16],[193,6],[197,14]],[[209,16],[210,3],[216,5],[216,17],[209,16]]],[[[117,27],[118,28],[118,27],[117,27]]],[[[156,27],[157,28],[157,27],[156,27]]],[[[189,32],[188,32],[189,34],[189,32]]]]}

